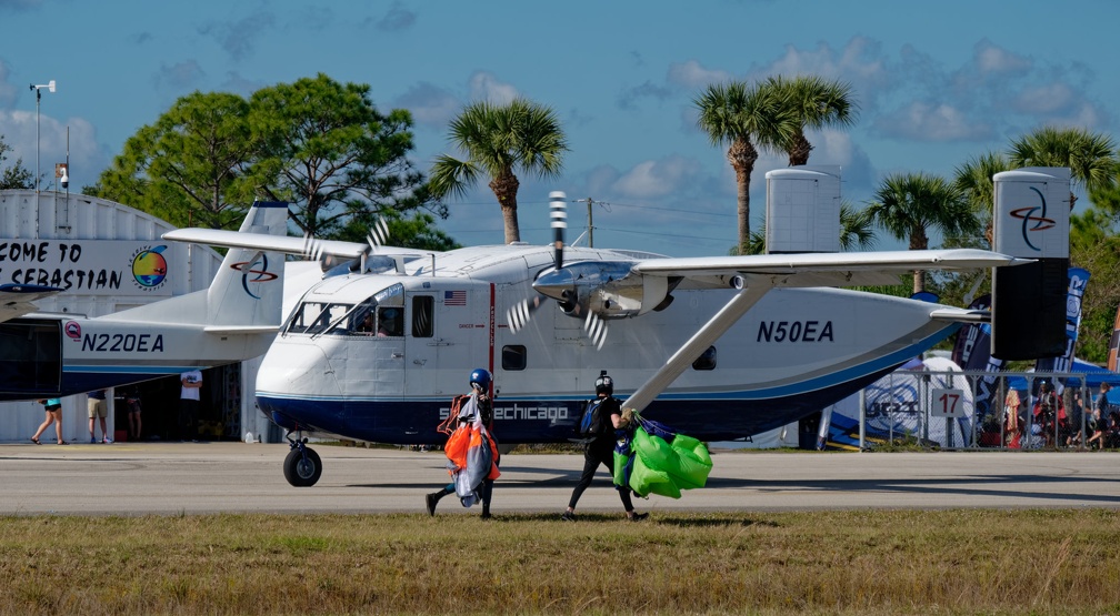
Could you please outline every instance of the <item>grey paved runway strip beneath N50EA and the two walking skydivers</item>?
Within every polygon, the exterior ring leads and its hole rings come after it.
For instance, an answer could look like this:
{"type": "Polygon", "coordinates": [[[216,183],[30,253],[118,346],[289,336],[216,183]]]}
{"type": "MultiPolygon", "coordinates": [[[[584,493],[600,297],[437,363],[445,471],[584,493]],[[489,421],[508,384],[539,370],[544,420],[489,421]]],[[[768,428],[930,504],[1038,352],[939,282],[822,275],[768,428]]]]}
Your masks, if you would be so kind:
{"type": "MultiPolygon", "coordinates": [[[[447,482],[440,452],[317,446],[312,487],[283,478],[287,444],[120,443],[0,445],[2,514],[215,512],[423,512],[423,494],[447,482]]],[[[715,452],[708,486],[680,500],[637,500],[640,511],[822,509],[1120,508],[1117,453],[715,452]]],[[[494,513],[559,513],[580,455],[506,455],[494,513]]],[[[584,512],[619,511],[605,471],[584,512]]],[[[440,512],[468,512],[454,497],[440,512]]]]}

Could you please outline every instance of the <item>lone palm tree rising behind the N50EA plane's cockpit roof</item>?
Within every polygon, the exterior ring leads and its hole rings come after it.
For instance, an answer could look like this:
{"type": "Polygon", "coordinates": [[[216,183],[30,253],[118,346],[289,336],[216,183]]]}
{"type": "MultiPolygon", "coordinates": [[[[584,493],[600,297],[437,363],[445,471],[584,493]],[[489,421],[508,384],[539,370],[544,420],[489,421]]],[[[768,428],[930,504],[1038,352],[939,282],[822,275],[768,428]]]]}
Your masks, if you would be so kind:
{"type": "Polygon", "coordinates": [[[505,243],[521,240],[517,225],[515,171],[554,178],[563,167],[567,140],[556,112],[525,98],[506,105],[472,103],[451,122],[448,138],[466,154],[458,160],[440,154],[431,169],[430,187],[437,199],[461,198],[483,176],[502,206],[505,243]]]}

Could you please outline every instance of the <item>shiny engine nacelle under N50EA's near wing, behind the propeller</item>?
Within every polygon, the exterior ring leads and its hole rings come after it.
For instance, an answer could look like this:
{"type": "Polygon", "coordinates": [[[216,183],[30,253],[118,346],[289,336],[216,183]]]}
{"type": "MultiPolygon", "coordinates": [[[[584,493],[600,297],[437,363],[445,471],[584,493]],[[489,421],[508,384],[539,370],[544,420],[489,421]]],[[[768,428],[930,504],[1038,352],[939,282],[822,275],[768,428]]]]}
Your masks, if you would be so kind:
{"type": "Polygon", "coordinates": [[[671,291],[664,276],[634,274],[628,263],[590,260],[547,272],[533,288],[559,302],[570,316],[594,312],[603,319],[645,314],[662,306],[671,291]]]}

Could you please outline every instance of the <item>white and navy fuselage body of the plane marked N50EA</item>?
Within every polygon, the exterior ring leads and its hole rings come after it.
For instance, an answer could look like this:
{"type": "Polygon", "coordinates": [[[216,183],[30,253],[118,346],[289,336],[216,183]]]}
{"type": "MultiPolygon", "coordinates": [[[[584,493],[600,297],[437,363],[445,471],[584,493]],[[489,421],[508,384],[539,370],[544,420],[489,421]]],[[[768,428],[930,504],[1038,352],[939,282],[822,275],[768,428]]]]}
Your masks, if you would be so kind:
{"type": "MultiPolygon", "coordinates": [[[[651,256],[564,250],[568,264],[651,256]]],[[[549,247],[491,246],[413,262],[405,275],[326,278],[304,296],[307,314],[293,314],[265,356],[258,404],[288,429],[438,443],[436,426],[451,397],[482,367],[494,375],[501,440],[564,442],[599,370],[624,398],[738,293],[685,282],[668,306],[610,320],[601,350],[584,320],[551,300],[514,333],[506,310],[534,296],[533,279],[552,264],[549,247]],[[357,331],[358,315],[377,306],[403,311],[399,335],[357,331]],[[324,324],[312,324],[314,316],[324,324]]],[[[702,439],[749,436],[809,416],[955,331],[955,323],[931,319],[934,307],[844,290],[774,288],[643,415],[702,439]]]]}

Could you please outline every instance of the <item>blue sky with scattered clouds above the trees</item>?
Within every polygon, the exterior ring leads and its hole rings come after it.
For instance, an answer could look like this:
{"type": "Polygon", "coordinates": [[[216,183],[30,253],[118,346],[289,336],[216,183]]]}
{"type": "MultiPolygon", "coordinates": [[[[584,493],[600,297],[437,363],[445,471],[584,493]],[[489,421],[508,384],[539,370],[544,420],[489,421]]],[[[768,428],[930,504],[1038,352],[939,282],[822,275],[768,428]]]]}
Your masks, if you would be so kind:
{"type": "MultiPolygon", "coordinates": [[[[90,2],[0,0],[0,134],[9,160],[66,157],[71,188],[93,183],[124,141],[194,91],[234,92],[325,73],[370,84],[408,108],[423,171],[452,152],[449,120],[468,102],[514,95],[556,110],[571,151],[562,178],[522,178],[522,239],[549,240],[550,190],[596,205],[595,244],[671,256],[726,254],[736,240],[725,149],[696,127],[711,83],[819,74],[851,83],[850,130],[810,134],[810,164],[842,168],[861,206],[884,176],[954,167],[1039,125],[1116,136],[1120,3],[1071,0],[90,2]],[[1061,7],[1061,8],[1058,8],[1061,7]]],[[[764,155],[752,218],[765,206],[764,155]]],[[[1081,209],[1083,201],[1079,201],[1081,209]]],[[[502,241],[484,184],[440,224],[467,245],[502,241]]],[[[573,203],[571,224],[586,224],[573,203]]],[[[572,239],[572,237],[569,239],[572,239]]],[[[878,248],[900,244],[880,233],[878,248]]]]}

